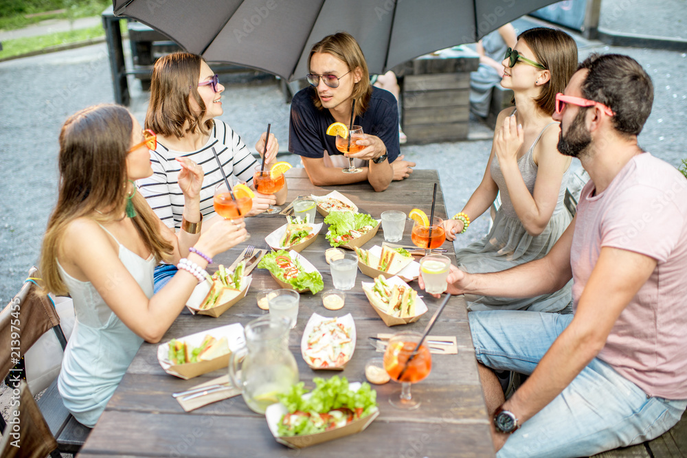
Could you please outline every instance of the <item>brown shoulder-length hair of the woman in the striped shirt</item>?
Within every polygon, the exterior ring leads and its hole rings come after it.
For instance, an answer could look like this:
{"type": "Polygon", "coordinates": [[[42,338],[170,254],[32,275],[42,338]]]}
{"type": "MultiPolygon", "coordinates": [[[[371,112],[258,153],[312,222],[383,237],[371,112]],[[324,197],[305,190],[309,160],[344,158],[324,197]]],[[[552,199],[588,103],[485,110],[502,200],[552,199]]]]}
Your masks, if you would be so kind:
{"type": "Polygon", "coordinates": [[[175,52],[161,57],[153,67],[150,80],[150,104],[146,113],[146,129],[164,137],[181,138],[199,130],[205,134],[212,128],[212,119],[203,124],[207,107],[198,93],[201,76],[201,56],[188,52],[175,52]],[[190,105],[193,98],[201,107],[197,115],[190,105]],[[188,121],[188,127],[183,126],[188,121]]]}

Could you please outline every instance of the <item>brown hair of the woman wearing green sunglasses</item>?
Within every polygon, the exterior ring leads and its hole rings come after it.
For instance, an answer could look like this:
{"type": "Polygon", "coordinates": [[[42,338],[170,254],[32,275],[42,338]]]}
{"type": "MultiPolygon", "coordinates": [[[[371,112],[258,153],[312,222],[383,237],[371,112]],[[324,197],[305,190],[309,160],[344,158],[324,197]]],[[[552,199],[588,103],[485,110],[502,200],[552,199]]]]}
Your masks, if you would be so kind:
{"type": "Polygon", "coordinates": [[[541,92],[534,103],[541,111],[552,115],[556,106],[556,93],[563,92],[567,82],[577,71],[577,44],[565,32],[548,27],[526,30],[517,39],[527,43],[534,53],[534,59],[550,73],[549,80],[541,86],[541,92]]]}

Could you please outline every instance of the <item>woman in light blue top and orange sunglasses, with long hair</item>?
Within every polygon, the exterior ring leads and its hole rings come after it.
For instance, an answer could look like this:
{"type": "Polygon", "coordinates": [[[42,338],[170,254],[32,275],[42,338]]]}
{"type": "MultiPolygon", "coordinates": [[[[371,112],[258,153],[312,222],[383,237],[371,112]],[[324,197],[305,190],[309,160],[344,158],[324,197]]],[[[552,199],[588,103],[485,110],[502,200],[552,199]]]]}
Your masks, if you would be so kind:
{"type": "Polygon", "coordinates": [[[188,158],[178,159],[182,230],[174,233],[159,220],[133,184],[153,173],[149,149],[156,141],[116,105],[86,108],[60,133],[60,190],[41,271],[47,290],[74,299],[76,325],[58,388],[86,426],[98,421],[141,343],[162,339],[203,278],[207,259],[246,235],[243,222],[221,220],[201,236],[203,171],[188,158]],[[183,267],[153,295],[159,260],[183,267]]]}

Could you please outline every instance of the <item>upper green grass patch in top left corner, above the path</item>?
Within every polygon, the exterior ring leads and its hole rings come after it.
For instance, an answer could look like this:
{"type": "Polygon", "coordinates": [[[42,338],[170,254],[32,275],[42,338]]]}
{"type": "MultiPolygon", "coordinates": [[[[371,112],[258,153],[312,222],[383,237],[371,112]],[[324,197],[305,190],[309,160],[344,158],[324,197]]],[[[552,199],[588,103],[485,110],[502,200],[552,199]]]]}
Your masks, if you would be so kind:
{"type": "Polygon", "coordinates": [[[110,5],[112,5],[110,0],[1,0],[0,30],[21,29],[46,19],[73,20],[80,17],[100,16],[110,5]],[[65,12],[26,17],[27,14],[54,10],[65,10],[65,12]]]}

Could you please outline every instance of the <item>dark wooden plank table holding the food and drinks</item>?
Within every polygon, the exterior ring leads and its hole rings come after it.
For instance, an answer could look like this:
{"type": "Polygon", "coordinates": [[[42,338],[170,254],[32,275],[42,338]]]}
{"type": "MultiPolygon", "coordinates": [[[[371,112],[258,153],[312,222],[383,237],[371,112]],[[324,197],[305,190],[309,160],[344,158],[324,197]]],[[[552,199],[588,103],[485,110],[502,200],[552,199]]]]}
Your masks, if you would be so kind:
{"type": "MultiPolygon", "coordinates": [[[[299,195],[324,195],[335,189],[313,186],[302,168],[292,169],[286,176],[289,201],[299,195]]],[[[337,190],[351,198],[361,211],[379,218],[386,209],[398,209],[406,213],[413,207],[429,209],[434,182],[438,182],[436,170],[416,170],[409,179],[392,183],[385,192],[373,192],[368,183],[340,186],[337,190]]],[[[440,188],[437,192],[436,214],[446,216],[444,196],[440,188]]],[[[318,215],[317,222],[321,218],[318,215]]],[[[264,236],[283,224],[283,217],[249,218],[247,225],[252,234],[249,242],[267,248],[264,236]]],[[[407,222],[403,244],[411,244],[410,229],[411,224],[407,222]]],[[[324,260],[324,250],[329,247],[324,232],[323,229],[315,243],[302,254],[322,273],[326,290],[333,285],[329,266],[324,260]]],[[[365,247],[381,242],[383,231],[380,229],[365,247]]],[[[219,255],[216,262],[231,264],[244,248],[245,244],[242,244],[219,255]]],[[[453,257],[452,245],[446,243],[444,248],[453,257]]],[[[214,266],[209,270],[212,267],[214,266]]],[[[256,305],[255,293],[278,286],[264,269],[256,268],[252,275],[253,283],[247,297],[221,317],[215,319],[192,316],[185,311],[174,321],[163,341],[236,321],[245,325],[264,314],[256,305]]],[[[334,375],[329,371],[309,369],[300,356],[302,333],[313,312],[332,317],[348,312],[353,315],[357,343],[353,358],[342,375],[350,381],[357,381],[364,380],[365,362],[382,355],[370,346],[368,336],[401,330],[422,332],[440,303],[438,299],[425,295],[429,312],[419,321],[387,328],[365,297],[360,286],[361,281],[371,279],[359,272],[357,286],[346,292],[346,306],[337,312],[330,312],[322,306],[319,293],[315,296],[310,293],[301,295],[298,321],[291,332],[289,345],[297,360],[300,378],[306,382],[306,386],[314,386],[311,380],[315,376],[334,375]]],[[[412,286],[418,289],[416,282],[412,286]]],[[[405,412],[389,404],[391,393],[399,387],[396,382],[373,385],[377,391],[381,413],[365,431],[301,450],[291,450],[275,442],[264,416],[249,410],[240,396],[184,413],[177,401],[170,396],[171,393],[221,376],[224,371],[205,374],[192,380],[181,380],[162,370],[157,362],[157,345],[144,343],[79,456],[491,457],[494,454],[489,424],[462,297],[451,298],[431,334],[455,335],[458,339],[458,354],[432,355],[431,374],[412,388],[414,396],[423,402],[420,409],[405,412]]]]}

